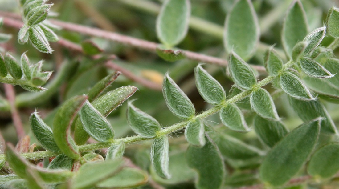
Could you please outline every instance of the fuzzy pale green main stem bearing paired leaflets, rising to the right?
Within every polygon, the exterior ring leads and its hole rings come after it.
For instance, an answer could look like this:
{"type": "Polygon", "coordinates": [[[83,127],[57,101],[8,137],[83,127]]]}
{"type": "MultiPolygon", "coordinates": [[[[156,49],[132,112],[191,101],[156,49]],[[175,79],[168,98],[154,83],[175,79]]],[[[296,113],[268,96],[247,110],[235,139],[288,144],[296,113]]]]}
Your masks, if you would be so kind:
{"type": "MultiPolygon", "coordinates": [[[[289,67],[291,67],[293,65],[294,65],[293,61],[287,62],[283,66],[283,68],[282,68],[282,70],[280,72],[283,72],[283,71],[287,70],[289,67]]],[[[241,93],[237,94],[236,96],[226,100],[220,106],[215,106],[215,107],[213,107],[213,108],[211,108],[209,110],[206,110],[206,111],[196,115],[192,119],[207,118],[208,116],[217,113],[222,107],[224,107],[224,106],[226,106],[226,105],[228,105],[230,103],[235,103],[235,102],[238,102],[241,99],[244,99],[245,97],[250,95],[252,91],[254,91],[257,88],[260,88],[262,86],[265,86],[268,83],[271,83],[277,77],[279,77],[279,75],[277,75],[277,76],[268,76],[265,79],[261,80],[259,83],[257,83],[255,86],[253,86],[251,89],[242,91],[241,93]]],[[[174,131],[183,129],[183,128],[186,127],[188,121],[189,120],[181,121],[181,122],[176,123],[176,124],[174,124],[172,126],[169,126],[167,128],[163,128],[160,131],[158,131],[156,137],[159,137],[159,136],[162,136],[162,135],[166,135],[166,134],[170,134],[170,133],[172,133],[174,131]]],[[[142,136],[136,135],[136,136],[130,136],[130,137],[122,138],[122,139],[115,139],[115,140],[112,141],[112,143],[111,142],[106,142],[106,143],[99,142],[99,143],[86,144],[86,145],[79,146],[79,152],[94,151],[94,150],[100,150],[102,148],[108,148],[113,143],[118,143],[120,141],[123,141],[125,144],[132,144],[132,143],[137,143],[137,142],[141,142],[141,141],[152,140],[154,138],[143,138],[142,136]]],[[[47,157],[54,157],[54,156],[56,156],[58,154],[59,153],[54,153],[54,152],[50,152],[50,151],[41,151],[41,152],[33,152],[33,153],[22,153],[21,155],[25,159],[35,160],[35,159],[42,159],[42,158],[47,158],[47,157]]],[[[3,154],[0,154],[0,162],[4,158],[5,158],[5,156],[3,154]]]]}

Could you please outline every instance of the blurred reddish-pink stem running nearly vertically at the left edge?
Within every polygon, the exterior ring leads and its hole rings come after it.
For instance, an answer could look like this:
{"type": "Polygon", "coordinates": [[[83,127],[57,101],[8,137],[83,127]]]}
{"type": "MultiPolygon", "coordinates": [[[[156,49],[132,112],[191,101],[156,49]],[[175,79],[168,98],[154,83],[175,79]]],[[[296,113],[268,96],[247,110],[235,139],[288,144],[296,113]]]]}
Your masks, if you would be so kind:
{"type": "Polygon", "coordinates": [[[23,138],[26,134],[23,130],[21,118],[17,108],[15,107],[15,91],[13,85],[4,84],[6,98],[8,100],[9,106],[11,106],[12,119],[14,123],[15,130],[17,131],[18,138],[23,138]]]}

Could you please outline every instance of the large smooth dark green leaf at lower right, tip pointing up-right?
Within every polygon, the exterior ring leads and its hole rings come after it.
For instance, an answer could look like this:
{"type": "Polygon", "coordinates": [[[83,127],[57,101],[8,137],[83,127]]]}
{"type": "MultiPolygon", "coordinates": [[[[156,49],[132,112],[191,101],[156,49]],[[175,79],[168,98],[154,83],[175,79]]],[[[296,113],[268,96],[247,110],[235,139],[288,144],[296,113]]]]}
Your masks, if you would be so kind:
{"type": "Polygon", "coordinates": [[[260,178],[273,186],[290,180],[305,164],[318,141],[320,119],[293,129],[266,155],[259,169],[260,178]]]}

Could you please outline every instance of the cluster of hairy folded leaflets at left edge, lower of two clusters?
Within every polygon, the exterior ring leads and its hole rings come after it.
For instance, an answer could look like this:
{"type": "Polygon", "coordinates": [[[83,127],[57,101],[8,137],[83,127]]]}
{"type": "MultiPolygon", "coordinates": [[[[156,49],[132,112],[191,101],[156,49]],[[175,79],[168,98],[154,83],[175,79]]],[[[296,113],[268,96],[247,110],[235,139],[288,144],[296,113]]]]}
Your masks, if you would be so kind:
{"type": "Polygon", "coordinates": [[[42,64],[43,61],[39,61],[31,65],[26,52],[21,55],[20,62],[8,52],[4,57],[0,54],[0,82],[20,85],[33,92],[44,91],[46,89],[41,85],[51,77],[52,71],[42,71],[42,64]]]}

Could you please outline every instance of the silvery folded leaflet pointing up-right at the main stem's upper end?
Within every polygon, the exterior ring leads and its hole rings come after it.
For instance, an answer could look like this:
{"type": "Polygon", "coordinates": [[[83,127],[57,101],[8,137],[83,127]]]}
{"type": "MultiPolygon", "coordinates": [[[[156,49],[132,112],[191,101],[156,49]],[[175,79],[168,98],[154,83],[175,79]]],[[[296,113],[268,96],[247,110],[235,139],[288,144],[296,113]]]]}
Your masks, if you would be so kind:
{"type": "Polygon", "coordinates": [[[304,41],[308,42],[307,47],[304,50],[304,55],[310,54],[324,39],[326,34],[326,27],[319,27],[314,29],[310,34],[308,34],[304,41]]]}

